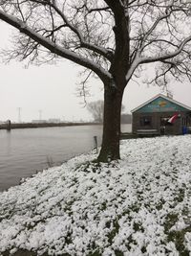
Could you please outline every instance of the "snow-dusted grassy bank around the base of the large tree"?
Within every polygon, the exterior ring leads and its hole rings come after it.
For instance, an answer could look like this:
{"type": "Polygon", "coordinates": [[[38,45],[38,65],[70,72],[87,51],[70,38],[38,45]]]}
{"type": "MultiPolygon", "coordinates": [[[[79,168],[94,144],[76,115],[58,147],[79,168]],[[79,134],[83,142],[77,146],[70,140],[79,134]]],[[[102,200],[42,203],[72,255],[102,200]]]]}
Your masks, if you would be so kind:
{"type": "Polygon", "coordinates": [[[122,141],[121,160],[94,158],[0,194],[0,255],[191,255],[191,135],[122,141]]]}

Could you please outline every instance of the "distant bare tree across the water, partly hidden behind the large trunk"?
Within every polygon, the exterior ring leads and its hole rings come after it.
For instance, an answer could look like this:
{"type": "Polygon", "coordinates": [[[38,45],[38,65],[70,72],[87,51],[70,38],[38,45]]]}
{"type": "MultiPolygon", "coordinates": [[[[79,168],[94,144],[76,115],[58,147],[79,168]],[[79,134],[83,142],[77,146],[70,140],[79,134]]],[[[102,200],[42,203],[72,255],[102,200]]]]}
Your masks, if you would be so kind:
{"type": "MultiPolygon", "coordinates": [[[[121,105],[121,111],[124,111],[125,106],[121,105]]],[[[104,102],[99,100],[92,102],[87,105],[87,109],[92,114],[94,121],[97,123],[103,123],[103,112],[104,112],[104,102]]]]}

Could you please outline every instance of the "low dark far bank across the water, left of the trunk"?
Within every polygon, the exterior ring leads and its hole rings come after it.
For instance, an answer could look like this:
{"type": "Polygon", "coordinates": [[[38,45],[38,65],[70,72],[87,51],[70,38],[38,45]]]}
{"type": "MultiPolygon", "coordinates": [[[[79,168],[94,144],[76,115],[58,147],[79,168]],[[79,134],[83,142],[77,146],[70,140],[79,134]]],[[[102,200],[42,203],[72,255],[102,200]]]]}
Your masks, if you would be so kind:
{"type": "MultiPolygon", "coordinates": [[[[100,123],[85,122],[85,123],[11,123],[11,128],[54,128],[54,127],[74,127],[74,126],[96,126],[100,123]]],[[[8,129],[8,124],[1,124],[0,129],[8,129]]]]}

